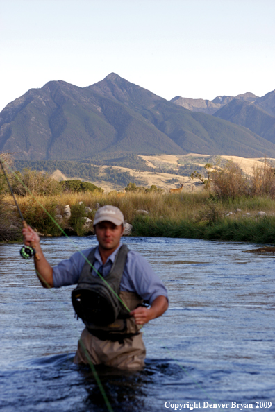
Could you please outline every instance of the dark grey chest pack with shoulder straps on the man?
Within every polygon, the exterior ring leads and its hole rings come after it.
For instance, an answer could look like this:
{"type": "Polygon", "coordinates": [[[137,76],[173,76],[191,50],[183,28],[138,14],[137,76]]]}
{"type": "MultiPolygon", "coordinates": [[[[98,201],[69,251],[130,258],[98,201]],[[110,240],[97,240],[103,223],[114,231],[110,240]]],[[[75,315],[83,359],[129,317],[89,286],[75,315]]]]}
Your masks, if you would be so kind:
{"type": "MultiPolygon", "coordinates": [[[[93,248],[88,255],[88,261],[92,266],[95,261],[96,249],[93,248]]],[[[104,277],[108,284],[98,275],[92,275],[92,267],[88,261],[85,261],[78,285],[72,291],[74,310],[85,325],[105,326],[114,323],[117,318],[126,319],[129,317],[128,310],[117,298],[127,254],[128,247],[122,245],[117,252],[110,273],[104,277]]]]}

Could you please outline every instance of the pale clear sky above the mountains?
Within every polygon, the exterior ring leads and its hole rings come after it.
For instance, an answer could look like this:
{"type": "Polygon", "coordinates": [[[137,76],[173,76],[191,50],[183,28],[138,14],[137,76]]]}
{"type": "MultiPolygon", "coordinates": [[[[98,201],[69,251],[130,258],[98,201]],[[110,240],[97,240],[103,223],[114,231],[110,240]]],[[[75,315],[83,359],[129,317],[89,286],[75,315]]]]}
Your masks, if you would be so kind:
{"type": "Polygon", "coordinates": [[[274,0],[0,0],[0,110],[111,72],[170,100],[275,89],[274,0]]]}

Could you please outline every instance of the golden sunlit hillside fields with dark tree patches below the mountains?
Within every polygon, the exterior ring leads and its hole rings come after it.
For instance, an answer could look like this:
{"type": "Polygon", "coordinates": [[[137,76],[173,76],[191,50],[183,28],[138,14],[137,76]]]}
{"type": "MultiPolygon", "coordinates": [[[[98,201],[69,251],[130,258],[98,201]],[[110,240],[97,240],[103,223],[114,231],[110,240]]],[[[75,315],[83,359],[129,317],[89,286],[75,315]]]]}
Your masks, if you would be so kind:
{"type": "MultiPolygon", "coordinates": [[[[156,184],[165,191],[179,187],[183,191],[201,191],[203,184],[198,179],[191,180],[190,174],[197,170],[206,177],[206,163],[224,166],[226,161],[238,162],[247,175],[251,175],[253,166],[263,164],[264,158],[244,158],[238,156],[210,156],[192,153],[189,155],[120,155],[108,159],[86,160],[85,162],[24,162],[16,161],[15,167],[44,170],[56,180],[80,179],[102,187],[105,192],[122,191],[129,182],[144,187],[156,184]]],[[[268,159],[275,166],[275,159],[268,159]]]]}

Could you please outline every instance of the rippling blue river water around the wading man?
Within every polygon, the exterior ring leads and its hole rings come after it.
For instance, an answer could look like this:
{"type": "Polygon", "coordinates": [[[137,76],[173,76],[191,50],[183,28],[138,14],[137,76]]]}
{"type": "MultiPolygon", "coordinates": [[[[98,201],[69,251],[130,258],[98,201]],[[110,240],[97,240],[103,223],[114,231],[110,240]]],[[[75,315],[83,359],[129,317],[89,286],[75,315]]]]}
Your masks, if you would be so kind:
{"type": "MultiPolygon", "coordinates": [[[[96,243],[42,239],[53,265],[96,243]]],[[[245,243],[142,237],[124,243],[153,266],[170,305],[144,327],[142,372],[97,368],[113,411],[169,412],[177,403],[188,411],[194,402],[194,411],[240,411],[237,404],[275,411],[274,257],[244,253],[256,246],[245,243]]],[[[107,411],[90,368],[72,361],[83,329],[70,300],[74,286],[42,289],[19,248],[0,245],[1,411],[107,411]]]]}

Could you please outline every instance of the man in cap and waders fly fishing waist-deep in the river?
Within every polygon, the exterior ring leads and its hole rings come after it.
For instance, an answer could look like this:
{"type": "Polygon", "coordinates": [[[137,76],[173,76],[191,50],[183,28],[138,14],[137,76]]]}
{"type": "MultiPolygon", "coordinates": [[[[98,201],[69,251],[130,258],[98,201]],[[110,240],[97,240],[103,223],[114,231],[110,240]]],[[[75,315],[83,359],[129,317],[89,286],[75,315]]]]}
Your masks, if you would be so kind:
{"type": "Polygon", "coordinates": [[[144,257],[120,243],[124,216],[117,207],[97,210],[94,232],[99,242],[96,248],[76,252],[52,268],[38,234],[29,226],[23,229],[24,243],[32,243],[40,256],[35,269],[42,286],[78,284],[72,302],[86,327],[74,362],[140,369],[146,354],[140,328],[167,310],[167,290],[144,257]],[[149,308],[142,306],[144,300],[149,301],[149,308]]]}

